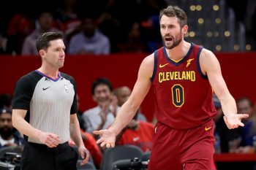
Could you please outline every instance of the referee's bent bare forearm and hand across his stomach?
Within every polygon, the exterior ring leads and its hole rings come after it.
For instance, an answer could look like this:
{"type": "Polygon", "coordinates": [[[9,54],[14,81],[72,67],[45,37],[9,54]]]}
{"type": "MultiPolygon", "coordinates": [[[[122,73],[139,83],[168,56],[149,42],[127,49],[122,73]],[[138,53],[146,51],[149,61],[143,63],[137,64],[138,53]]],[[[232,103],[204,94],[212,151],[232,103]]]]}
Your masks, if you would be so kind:
{"type": "Polygon", "coordinates": [[[26,112],[27,111],[24,109],[12,109],[12,125],[22,134],[30,136],[31,138],[39,139],[48,147],[56,147],[60,142],[59,136],[51,133],[44,133],[31,126],[26,120],[24,120],[26,112]]]}

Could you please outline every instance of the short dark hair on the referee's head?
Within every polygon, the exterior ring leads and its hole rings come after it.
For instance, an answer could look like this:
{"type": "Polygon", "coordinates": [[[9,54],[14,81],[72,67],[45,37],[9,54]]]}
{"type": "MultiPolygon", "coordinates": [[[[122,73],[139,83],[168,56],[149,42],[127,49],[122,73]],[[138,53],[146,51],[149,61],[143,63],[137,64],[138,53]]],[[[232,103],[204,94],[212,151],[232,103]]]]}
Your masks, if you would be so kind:
{"type": "Polygon", "coordinates": [[[56,40],[56,39],[63,39],[63,34],[59,32],[45,32],[44,34],[39,35],[37,38],[37,51],[39,50],[47,50],[48,47],[50,47],[50,41],[56,40]]]}

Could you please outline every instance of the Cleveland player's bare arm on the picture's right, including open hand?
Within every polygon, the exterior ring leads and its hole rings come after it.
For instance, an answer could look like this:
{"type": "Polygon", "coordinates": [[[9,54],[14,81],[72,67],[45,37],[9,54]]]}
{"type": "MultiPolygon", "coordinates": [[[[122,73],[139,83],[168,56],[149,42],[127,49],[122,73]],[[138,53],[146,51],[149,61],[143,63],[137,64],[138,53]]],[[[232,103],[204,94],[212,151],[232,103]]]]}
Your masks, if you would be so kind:
{"type": "Polygon", "coordinates": [[[203,49],[200,54],[200,66],[203,74],[207,74],[211,88],[213,88],[214,93],[216,93],[222,104],[227,128],[238,128],[239,125],[244,126],[244,123],[241,123],[241,119],[249,115],[237,115],[236,101],[227,89],[219,61],[214,53],[203,49]]]}

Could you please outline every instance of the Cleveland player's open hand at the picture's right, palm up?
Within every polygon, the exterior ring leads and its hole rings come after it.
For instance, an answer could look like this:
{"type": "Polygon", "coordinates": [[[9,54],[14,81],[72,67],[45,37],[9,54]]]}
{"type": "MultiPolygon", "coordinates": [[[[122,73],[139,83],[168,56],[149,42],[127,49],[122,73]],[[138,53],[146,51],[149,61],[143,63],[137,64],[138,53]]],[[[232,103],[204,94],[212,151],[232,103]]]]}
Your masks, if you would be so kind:
{"type": "Polygon", "coordinates": [[[244,127],[244,123],[241,122],[243,118],[249,117],[247,114],[233,114],[230,116],[224,116],[224,121],[227,125],[227,128],[232,129],[232,128],[238,128],[238,126],[244,127]]]}

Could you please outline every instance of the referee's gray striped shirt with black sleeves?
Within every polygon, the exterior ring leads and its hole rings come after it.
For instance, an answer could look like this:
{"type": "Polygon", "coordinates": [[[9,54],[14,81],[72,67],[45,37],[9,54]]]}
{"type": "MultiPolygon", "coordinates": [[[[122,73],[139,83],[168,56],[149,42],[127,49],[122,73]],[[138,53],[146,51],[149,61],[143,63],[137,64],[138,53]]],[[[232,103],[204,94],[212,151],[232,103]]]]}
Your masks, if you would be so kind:
{"type": "MultiPolygon", "coordinates": [[[[25,109],[25,120],[34,128],[56,134],[61,143],[70,139],[70,115],[77,112],[75,80],[59,73],[56,80],[38,72],[30,72],[16,83],[12,109],[25,109]]],[[[25,136],[26,141],[41,143],[25,136]]]]}

